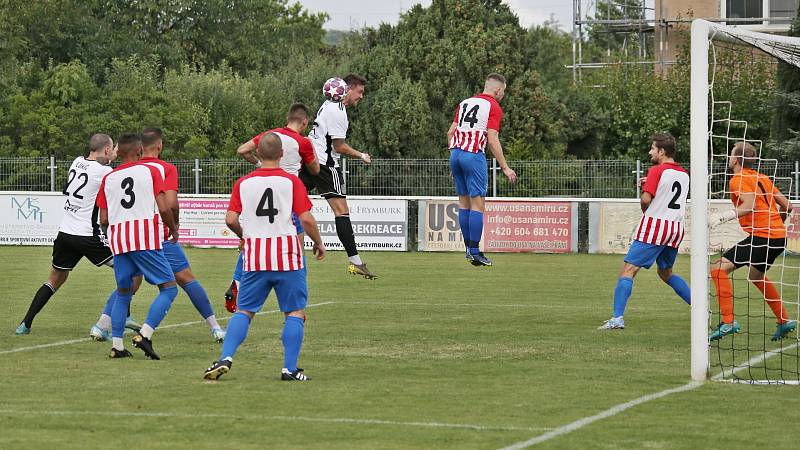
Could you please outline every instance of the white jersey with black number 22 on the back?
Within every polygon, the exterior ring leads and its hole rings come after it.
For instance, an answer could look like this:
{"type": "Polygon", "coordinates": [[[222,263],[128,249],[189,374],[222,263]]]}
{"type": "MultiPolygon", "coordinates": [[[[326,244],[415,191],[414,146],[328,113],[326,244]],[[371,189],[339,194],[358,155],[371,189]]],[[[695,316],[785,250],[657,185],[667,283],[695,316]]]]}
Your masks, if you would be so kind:
{"type": "Polygon", "coordinates": [[[97,192],[103,177],[111,172],[111,167],[83,156],[75,158],[69,166],[67,184],[63,194],[64,218],[58,231],[73,236],[100,236],[98,208],[95,206],[97,192]]]}

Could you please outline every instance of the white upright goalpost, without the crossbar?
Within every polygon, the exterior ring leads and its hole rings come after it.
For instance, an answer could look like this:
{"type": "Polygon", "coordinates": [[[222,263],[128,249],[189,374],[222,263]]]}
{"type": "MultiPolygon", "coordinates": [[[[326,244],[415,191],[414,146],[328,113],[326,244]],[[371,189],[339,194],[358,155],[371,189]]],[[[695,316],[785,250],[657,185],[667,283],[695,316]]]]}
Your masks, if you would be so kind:
{"type": "Polygon", "coordinates": [[[691,274],[692,379],[708,378],[708,35],[711,24],[691,28],[691,274]]]}

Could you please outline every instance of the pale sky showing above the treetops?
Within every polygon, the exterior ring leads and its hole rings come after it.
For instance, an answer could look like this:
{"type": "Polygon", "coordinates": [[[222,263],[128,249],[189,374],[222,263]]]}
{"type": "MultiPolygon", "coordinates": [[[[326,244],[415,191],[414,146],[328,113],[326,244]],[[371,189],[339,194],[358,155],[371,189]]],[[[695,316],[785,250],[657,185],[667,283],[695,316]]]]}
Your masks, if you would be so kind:
{"type": "MultiPolygon", "coordinates": [[[[298,0],[312,12],[327,12],[329,30],[350,30],[364,25],[375,27],[386,22],[396,24],[400,12],[419,3],[430,6],[430,0],[298,0]]],[[[506,0],[524,27],[541,24],[550,14],[563,30],[572,30],[572,0],[506,0]]]]}

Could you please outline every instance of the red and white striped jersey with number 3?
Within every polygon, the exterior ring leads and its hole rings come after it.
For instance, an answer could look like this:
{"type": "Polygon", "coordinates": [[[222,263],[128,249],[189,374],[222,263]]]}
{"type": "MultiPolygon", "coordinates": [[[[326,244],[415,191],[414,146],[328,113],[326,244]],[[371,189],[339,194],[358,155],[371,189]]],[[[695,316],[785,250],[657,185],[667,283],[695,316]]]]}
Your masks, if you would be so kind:
{"type": "Polygon", "coordinates": [[[164,192],[158,169],[139,161],[118,166],[103,178],[97,206],[108,210],[108,243],[115,255],[160,250],[163,240],[156,195],[164,192]]]}

